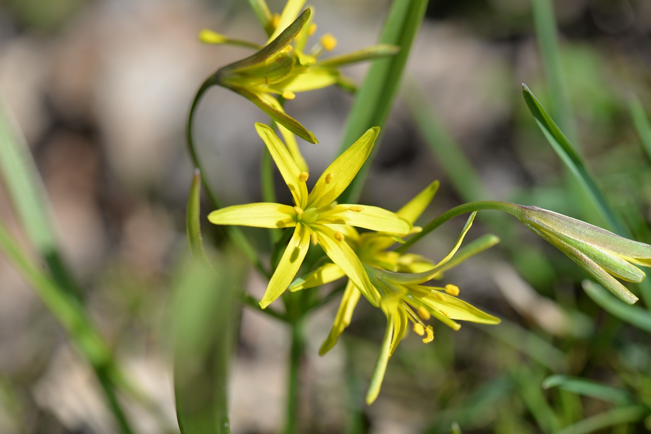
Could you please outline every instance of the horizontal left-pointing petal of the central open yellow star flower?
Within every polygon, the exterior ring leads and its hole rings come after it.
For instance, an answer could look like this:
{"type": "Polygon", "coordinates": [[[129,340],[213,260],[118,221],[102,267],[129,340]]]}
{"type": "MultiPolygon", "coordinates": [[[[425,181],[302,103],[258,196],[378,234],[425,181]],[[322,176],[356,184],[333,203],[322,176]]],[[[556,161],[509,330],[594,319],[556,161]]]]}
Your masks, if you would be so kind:
{"type": "Polygon", "coordinates": [[[296,226],[296,211],[289,205],[258,202],[212,211],[208,214],[208,221],[256,228],[290,228],[296,226]]]}

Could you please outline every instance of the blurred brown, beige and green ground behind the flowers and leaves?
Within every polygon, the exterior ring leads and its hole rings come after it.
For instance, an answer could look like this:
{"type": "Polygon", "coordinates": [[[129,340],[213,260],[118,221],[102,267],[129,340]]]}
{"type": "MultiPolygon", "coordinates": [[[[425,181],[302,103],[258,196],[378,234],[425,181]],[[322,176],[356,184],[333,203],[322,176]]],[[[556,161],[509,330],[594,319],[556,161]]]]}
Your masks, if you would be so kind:
{"type": "MultiPolygon", "coordinates": [[[[283,4],[269,3],[275,12],[283,4]]],[[[387,0],[308,4],[316,37],[337,37],[335,54],[376,43],[389,7],[387,0]]],[[[561,120],[564,131],[637,239],[649,242],[650,163],[629,104],[635,95],[650,107],[651,3],[575,0],[554,7],[571,108],[561,120]]],[[[249,54],[199,44],[203,28],[265,40],[244,1],[0,2],[1,102],[33,152],[64,259],[92,320],[158,409],[158,416],[128,409],[143,433],[178,432],[166,327],[187,252],[189,105],[205,77],[249,54]]],[[[359,83],[366,68],[345,72],[359,83]]],[[[441,188],[421,224],[462,202],[492,199],[604,226],[521,96],[527,83],[549,108],[546,80],[529,1],[430,1],[361,203],[397,210],[437,179],[441,188]]],[[[300,143],[312,172],[335,157],[351,102],[350,94],[327,88],[286,104],[320,140],[300,143]]],[[[195,118],[204,167],[227,204],[260,200],[262,142],[254,122],[267,122],[266,116],[223,88],[206,94],[195,118]]],[[[20,235],[3,191],[0,202],[0,218],[20,235]]],[[[447,224],[417,251],[437,261],[463,223],[447,224]]],[[[563,425],[612,407],[542,390],[551,373],[615,387],[642,384],[651,393],[649,335],[603,312],[581,290],[583,271],[516,223],[479,213],[469,239],[493,232],[502,245],[447,275],[463,299],[503,323],[467,324],[458,332],[439,324],[426,346],[406,338],[371,407],[363,394],[385,318],[361,303],[338,346],[318,357],[338,300],[314,314],[301,373],[304,432],[343,432],[357,424],[361,432],[436,433],[449,432],[454,421],[464,433],[551,432],[545,420],[563,425]]],[[[260,297],[265,287],[251,269],[245,288],[260,297]]],[[[92,372],[1,259],[0,300],[0,432],[113,432],[92,372]]],[[[282,429],[288,336],[282,323],[244,310],[229,389],[234,432],[282,429]]],[[[642,432],[642,426],[617,432],[642,432]]]]}

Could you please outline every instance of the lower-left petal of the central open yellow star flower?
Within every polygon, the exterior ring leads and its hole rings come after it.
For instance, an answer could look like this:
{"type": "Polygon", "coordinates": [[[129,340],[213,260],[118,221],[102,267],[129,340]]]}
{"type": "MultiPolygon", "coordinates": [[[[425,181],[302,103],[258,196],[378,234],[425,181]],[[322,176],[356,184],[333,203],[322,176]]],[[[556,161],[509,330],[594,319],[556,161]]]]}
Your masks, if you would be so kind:
{"type": "Polygon", "coordinates": [[[294,235],[290,239],[276,271],[271,276],[267,290],[260,300],[260,307],[266,308],[287,289],[303,264],[303,258],[305,258],[309,246],[310,231],[303,224],[299,224],[294,230],[294,235]]]}

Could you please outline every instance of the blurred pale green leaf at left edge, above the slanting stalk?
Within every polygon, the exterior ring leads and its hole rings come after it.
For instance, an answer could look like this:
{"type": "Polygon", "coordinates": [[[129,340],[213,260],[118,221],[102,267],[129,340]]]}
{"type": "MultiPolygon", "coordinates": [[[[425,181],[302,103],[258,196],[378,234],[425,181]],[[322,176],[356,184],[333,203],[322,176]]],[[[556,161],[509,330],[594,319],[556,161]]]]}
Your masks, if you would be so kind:
{"type": "Polygon", "coordinates": [[[61,258],[50,205],[29,146],[10,111],[0,100],[0,176],[21,226],[45,259],[61,290],[79,295],[79,288],[61,258]]]}

